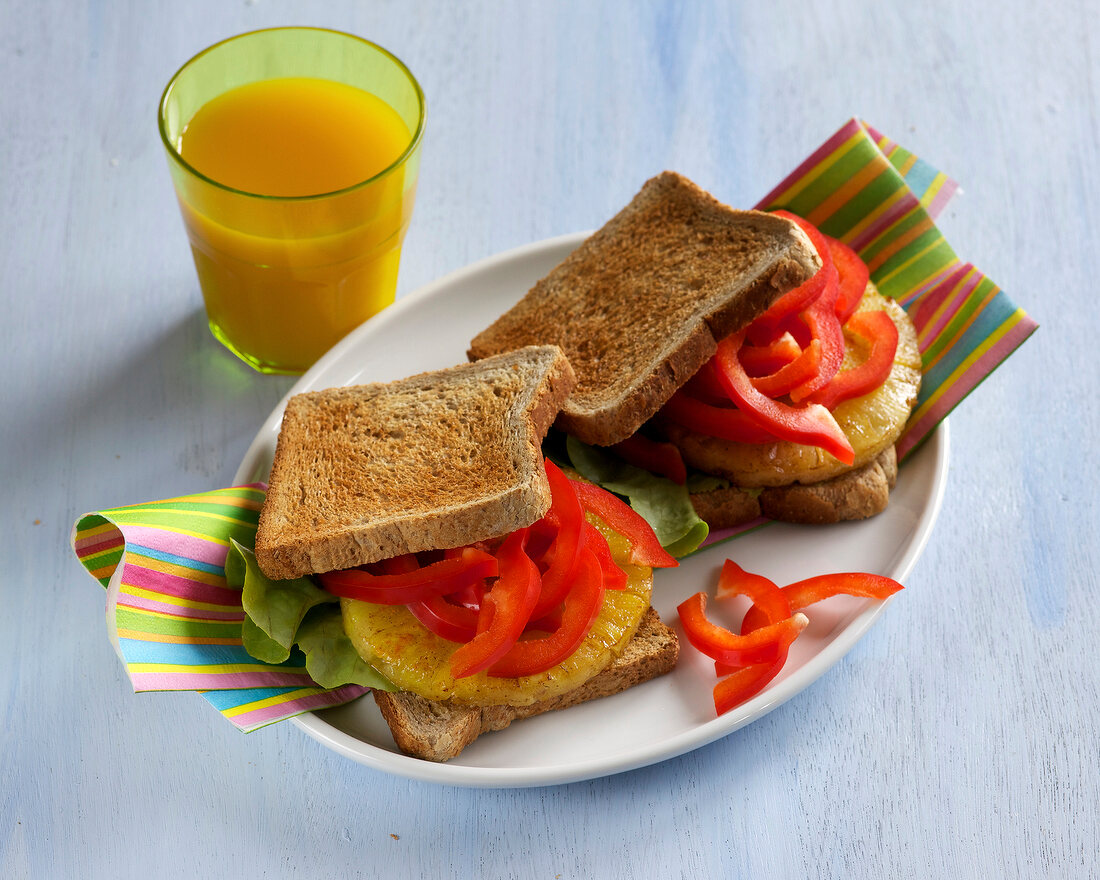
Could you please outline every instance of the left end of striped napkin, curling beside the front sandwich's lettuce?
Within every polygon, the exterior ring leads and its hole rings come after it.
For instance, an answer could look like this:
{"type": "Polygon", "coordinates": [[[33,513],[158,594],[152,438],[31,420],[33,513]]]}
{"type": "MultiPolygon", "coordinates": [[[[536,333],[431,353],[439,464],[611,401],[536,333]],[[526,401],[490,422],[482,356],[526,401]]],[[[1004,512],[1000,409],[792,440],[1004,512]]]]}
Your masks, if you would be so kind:
{"type": "Polygon", "coordinates": [[[230,539],[253,544],[262,485],[88,514],[73,549],[108,591],[107,623],[134,691],[199,691],[243,730],[366,692],[318,688],[300,654],[271,666],[241,647],[241,591],[226,584],[230,539]]]}

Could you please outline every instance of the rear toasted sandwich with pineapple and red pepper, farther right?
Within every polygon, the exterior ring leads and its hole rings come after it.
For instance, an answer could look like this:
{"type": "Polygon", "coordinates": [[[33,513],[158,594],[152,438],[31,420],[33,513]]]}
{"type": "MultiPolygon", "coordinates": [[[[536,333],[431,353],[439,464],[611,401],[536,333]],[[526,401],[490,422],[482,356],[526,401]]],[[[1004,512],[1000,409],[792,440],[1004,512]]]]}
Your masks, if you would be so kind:
{"type": "Polygon", "coordinates": [[[469,356],[529,344],[559,345],[576,372],[556,427],[684,485],[712,528],[881,512],[921,378],[912,323],[854,252],[671,172],[469,356]]]}

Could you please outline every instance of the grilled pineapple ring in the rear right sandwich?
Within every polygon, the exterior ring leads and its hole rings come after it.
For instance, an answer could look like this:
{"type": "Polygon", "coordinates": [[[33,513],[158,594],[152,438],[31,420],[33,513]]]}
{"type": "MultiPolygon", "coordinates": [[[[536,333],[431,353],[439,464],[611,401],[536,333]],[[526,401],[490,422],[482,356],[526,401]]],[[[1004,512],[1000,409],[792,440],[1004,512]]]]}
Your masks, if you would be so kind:
{"type": "MultiPolygon", "coordinates": [[[[916,331],[904,309],[868,284],[859,311],[886,311],[898,328],[898,353],[887,381],[870,394],[845,400],[833,410],[837,424],[856,452],[849,468],[817,447],[780,440],[774,443],[737,443],[693,433],[679,425],[666,426],[684,461],[745,488],[818,483],[873,461],[893,446],[909,420],[921,388],[921,353],[916,331]]],[[[867,356],[868,343],[845,331],[847,350],[842,369],[867,356]]]]}

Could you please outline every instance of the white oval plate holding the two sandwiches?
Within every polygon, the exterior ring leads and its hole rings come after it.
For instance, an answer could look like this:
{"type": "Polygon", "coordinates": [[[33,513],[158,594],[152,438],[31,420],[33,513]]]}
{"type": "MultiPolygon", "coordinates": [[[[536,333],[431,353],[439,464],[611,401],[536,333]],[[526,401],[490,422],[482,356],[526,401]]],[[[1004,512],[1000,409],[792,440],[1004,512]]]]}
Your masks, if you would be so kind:
{"type": "MultiPolygon", "coordinates": [[[[483,260],[403,297],[352,332],[290,394],[400,378],[465,360],[468,342],[512,306],[587,233],[550,239],[483,260]]],[[[284,399],[260,429],[237,482],[267,476],[284,399]]],[[[700,590],[713,595],[727,556],[749,571],[791,583],[835,571],[868,571],[904,582],[939,512],[947,474],[946,422],[901,471],[890,507],[862,522],[774,524],[659,571],[653,607],[667,623],[700,590]]],[[[904,595],[904,594],[902,594],[904,595]]],[[[810,609],[782,674],[754,700],[714,717],[714,667],[682,640],[670,674],[616,696],[514,724],[477,739],[448,763],[396,750],[374,702],[308,713],[295,723],[334,751],[387,773],[454,785],[544,785],[617,773],[682,755],[756,721],[812,684],[868,630],[888,603],[839,596],[810,609]]],[[[711,603],[714,615],[724,609],[711,603]]],[[[729,610],[729,609],[725,609],[729,610]]],[[[730,617],[729,625],[736,619],[730,617]]]]}

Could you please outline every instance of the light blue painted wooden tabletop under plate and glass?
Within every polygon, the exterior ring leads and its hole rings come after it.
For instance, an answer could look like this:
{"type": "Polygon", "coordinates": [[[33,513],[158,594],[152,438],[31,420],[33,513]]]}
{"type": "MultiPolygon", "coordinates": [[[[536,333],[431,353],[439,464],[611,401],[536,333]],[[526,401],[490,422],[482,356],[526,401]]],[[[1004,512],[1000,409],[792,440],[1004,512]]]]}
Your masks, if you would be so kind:
{"type": "Polygon", "coordinates": [[[1100,873],[1094,3],[0,7],[0,877],[1100,873]],[[134,696],[79,514],[228,483],[289,388],[208,333],[155,132],[176,67],[352,31],[429,128],[400,290],[680,170],[747,206],[860,116],[955,176],[956,249],[1042,323],[952,417],[942,517],[821,681],[682,758],[526,790],[392,778],[134,696]]]}

